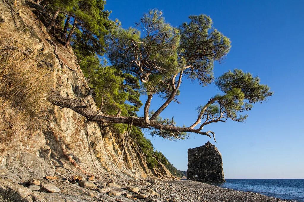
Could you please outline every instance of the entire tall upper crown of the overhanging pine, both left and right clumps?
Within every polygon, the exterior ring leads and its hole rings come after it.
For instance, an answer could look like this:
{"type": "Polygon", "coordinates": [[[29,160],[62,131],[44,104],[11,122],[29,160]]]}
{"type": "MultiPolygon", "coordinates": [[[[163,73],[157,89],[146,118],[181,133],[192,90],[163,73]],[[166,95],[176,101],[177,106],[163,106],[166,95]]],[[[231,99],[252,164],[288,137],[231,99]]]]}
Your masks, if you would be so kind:
{"type": "Polygon", "coordinates": [[[142,32],[120,26],[110,30],[107,55],[123,71],[140,80],[145,78],[145,85],[154,87],[153,93],[163,97],[172,91],[167,80],[181,69],[188,78],[206,85],[213,78],[213,61],[229,52],[230,40],[212,29],[212,20],[206,15],[189,19],[176,29],[165,22],[161,11],[151,10],[136,23],[142,32]]]}

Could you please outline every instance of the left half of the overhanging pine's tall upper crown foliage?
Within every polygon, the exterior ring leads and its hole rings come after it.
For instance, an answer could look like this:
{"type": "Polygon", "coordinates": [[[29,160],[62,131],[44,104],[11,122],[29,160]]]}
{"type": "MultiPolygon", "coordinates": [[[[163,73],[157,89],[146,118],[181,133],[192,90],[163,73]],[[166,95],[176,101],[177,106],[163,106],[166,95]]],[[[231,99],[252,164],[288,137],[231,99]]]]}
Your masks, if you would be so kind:
{"type": "Polygon", "coordinates": [[[178,29],[166,23],[158,10],[151,10],[145,14],[137,23],[137,27],[143,30],[143,37],[136,28],[123,29],[116,26],[111,30],[107,48],[111,63],[142,79],[138,63],[134,61],[134,57],[137,56],[130,50],[133,47],[140,53],[140,58],[144,58],[145,66],[149,68],[150,73],[162,77],[171,76],[178,65],[178,29]],[[161,68],[153,68],[155,66],[161,68]]]}

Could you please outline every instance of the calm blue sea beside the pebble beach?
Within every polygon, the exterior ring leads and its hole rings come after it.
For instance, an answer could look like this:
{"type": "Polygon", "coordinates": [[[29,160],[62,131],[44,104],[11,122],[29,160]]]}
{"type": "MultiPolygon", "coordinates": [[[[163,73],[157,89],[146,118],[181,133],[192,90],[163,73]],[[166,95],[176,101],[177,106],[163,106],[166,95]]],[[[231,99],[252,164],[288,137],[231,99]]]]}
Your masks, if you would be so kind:
{"type": "Polygon", "coordinates": [[[209,183],[219,187],[251,191],[266,196],[304,202],[304,179],[241,179],[209,183]]]}

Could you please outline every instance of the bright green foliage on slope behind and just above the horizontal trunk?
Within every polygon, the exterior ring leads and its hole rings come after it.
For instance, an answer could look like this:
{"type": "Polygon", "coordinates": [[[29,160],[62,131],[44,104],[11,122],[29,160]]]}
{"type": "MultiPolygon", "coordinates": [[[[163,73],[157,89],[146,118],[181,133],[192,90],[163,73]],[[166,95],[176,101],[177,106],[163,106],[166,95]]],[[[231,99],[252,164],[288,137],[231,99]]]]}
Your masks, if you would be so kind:
{"type": "Polygon", "coordinates": [[[100,64],[98,57],[86,57],[80,62],[90,88],[94,88],[93,98],[104,114],[136,116],[142,103],[138,92],[138,79],[122,73],[121,70],[100,64]],[[127,102],[127,103],[126,103],[127,102]]]}

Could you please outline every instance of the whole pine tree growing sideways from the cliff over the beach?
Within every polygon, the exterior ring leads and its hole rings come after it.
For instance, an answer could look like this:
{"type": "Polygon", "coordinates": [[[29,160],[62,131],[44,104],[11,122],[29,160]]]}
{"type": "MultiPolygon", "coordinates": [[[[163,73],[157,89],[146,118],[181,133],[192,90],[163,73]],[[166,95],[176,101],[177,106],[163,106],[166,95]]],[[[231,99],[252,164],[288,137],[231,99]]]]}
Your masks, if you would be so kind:
{"type": "MultiPolygon", "coordinates": [[[[264,101],[272,93],[269,87],[260,84],[257,77],[241,70],[224,73],[215,84],[223,91],[197,107],[198,117],[188,127],[178,127],[173,118],[162,119],[161,112],[177,101],[183,79],[196,80],[202,86],[212,82],[213,62],[222,60],[230,50],[230,39],[216,29],[206,15],[190,16],[190,22],[174,28],[166,23],[162,13],[151,10],[137,23],[137,28],[114,27],[108,35],[107,55],[113,65],[123,72],[137,77],[147,101],[144,117],[126,117],[98,114],[88,108],[83,101],[60,96],[50,97],[52,103],[71,108],[90,120],[102,123],[127,123],[151,129],[152,135],[168,139],[184,139],[187,132],[214,137],[213,131],[203,131],[207,124],[244,121],[252,103],[264,101]],[[164,98],[164,103],[155,111],[150,111],[154,95],[164,98]]],[[[181,92],[182,93],[182,92],[181,92]]],[[[214,138],[215,140],[215,138],[214,138]]]]}

